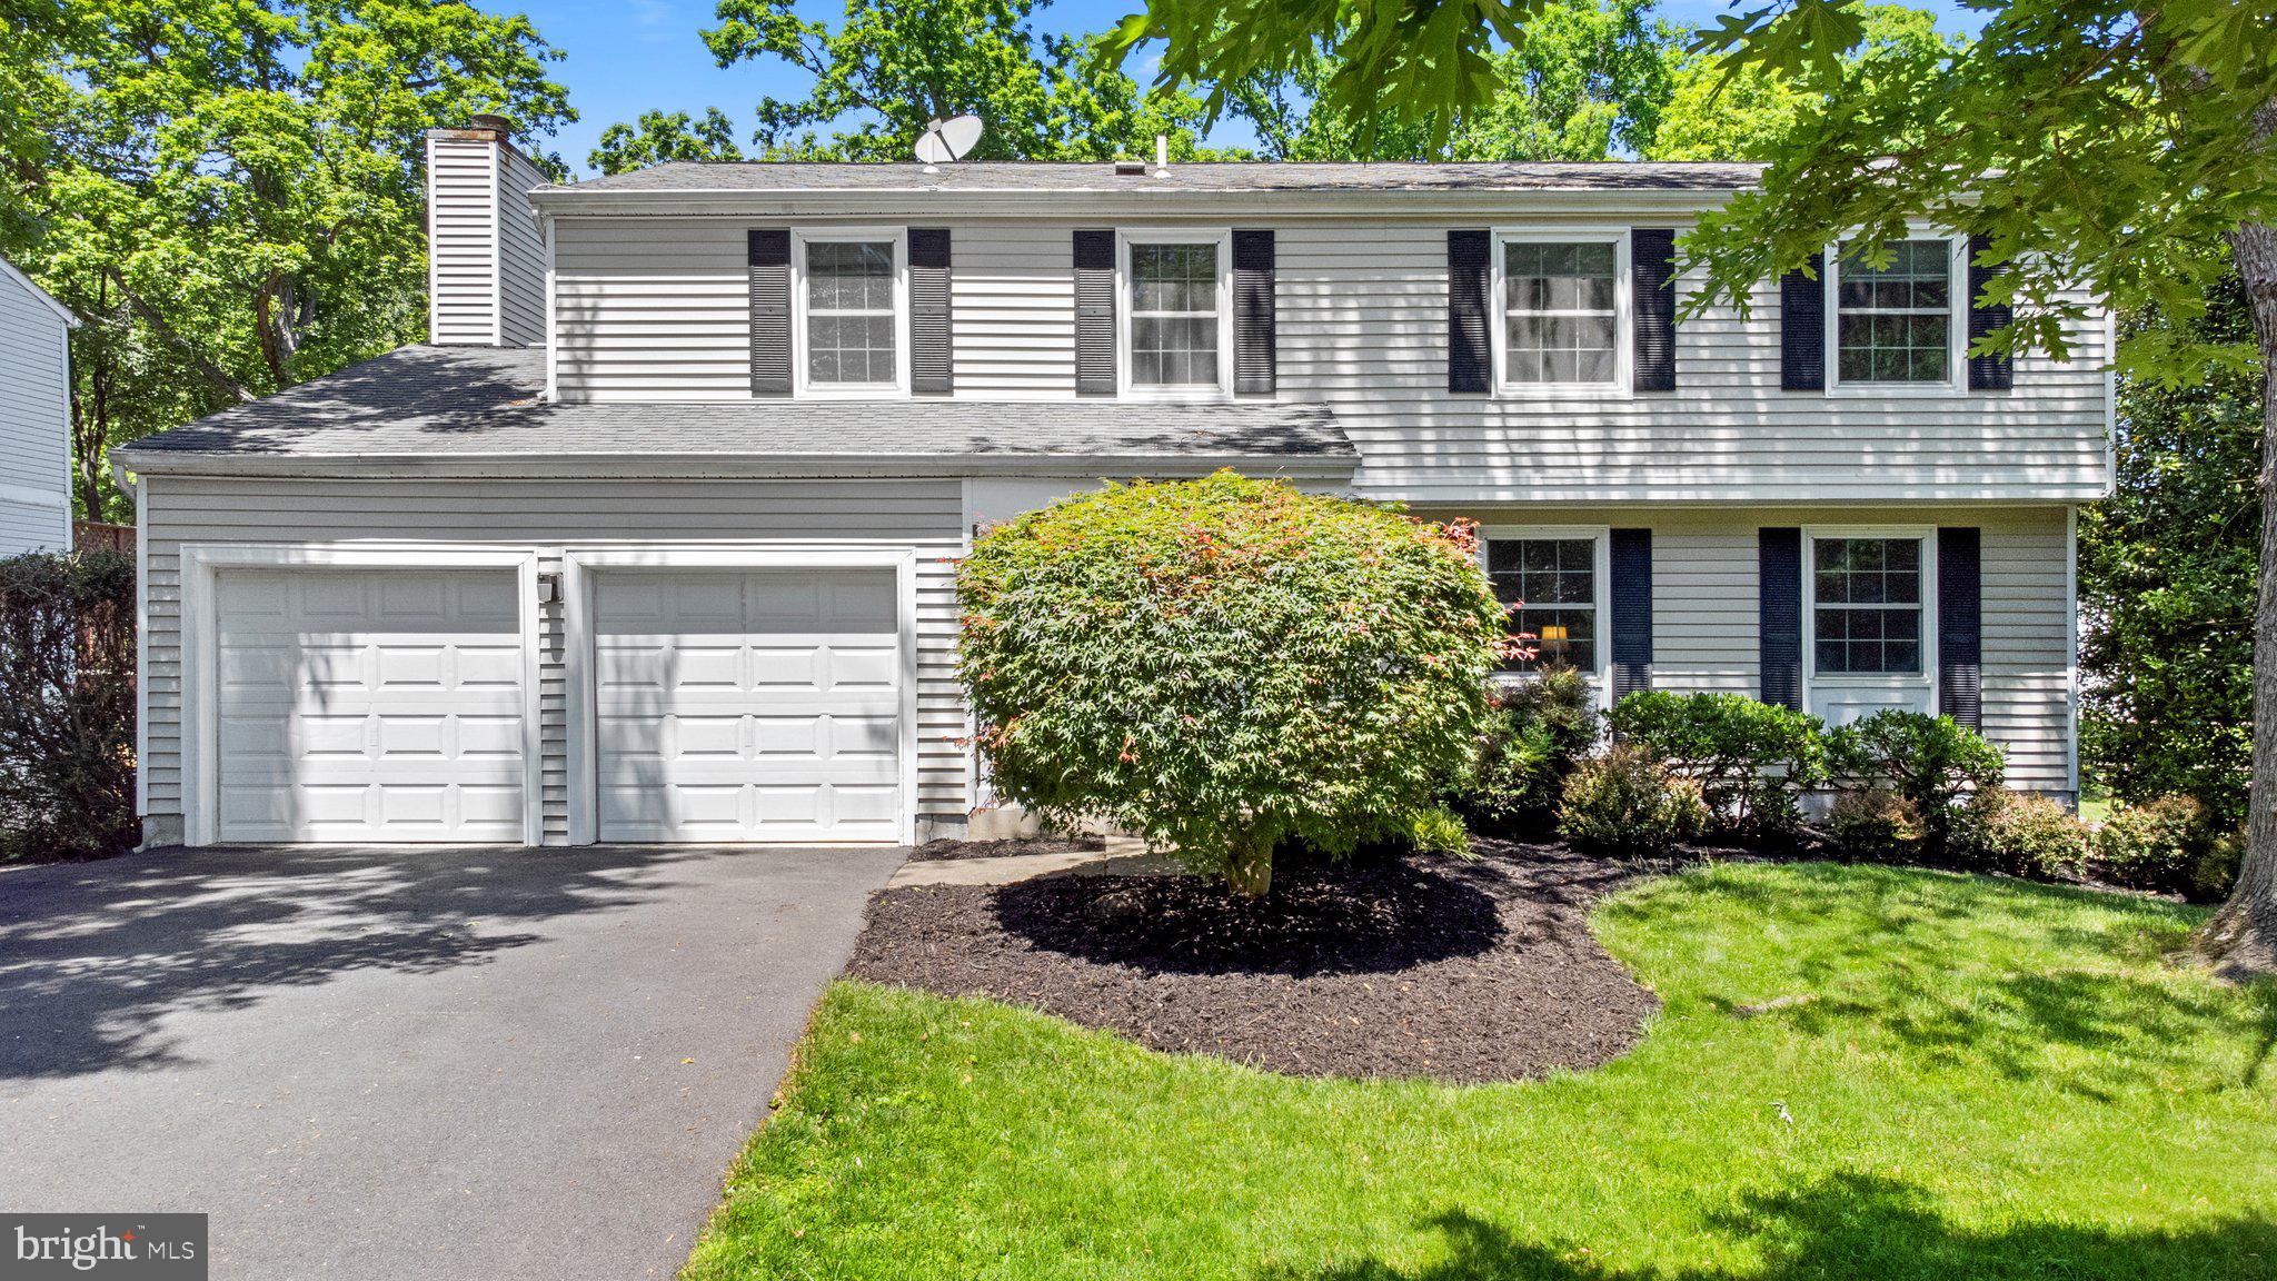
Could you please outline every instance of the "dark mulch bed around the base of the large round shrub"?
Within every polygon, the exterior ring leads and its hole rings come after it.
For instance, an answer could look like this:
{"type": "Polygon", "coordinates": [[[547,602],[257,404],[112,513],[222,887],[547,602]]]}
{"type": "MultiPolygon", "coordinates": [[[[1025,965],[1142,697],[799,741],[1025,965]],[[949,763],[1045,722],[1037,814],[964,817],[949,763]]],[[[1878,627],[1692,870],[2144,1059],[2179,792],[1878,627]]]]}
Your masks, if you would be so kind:
{"type": "Polygon", "coordinates": [[[1628,1051],[1658,1003],[1585,916],[1630,868],[1478,850],[1277,866],[1259,903],[1143,875],[888,889],[849,973],[1296,1076],[1514,1080],[1628,1051]]]}

